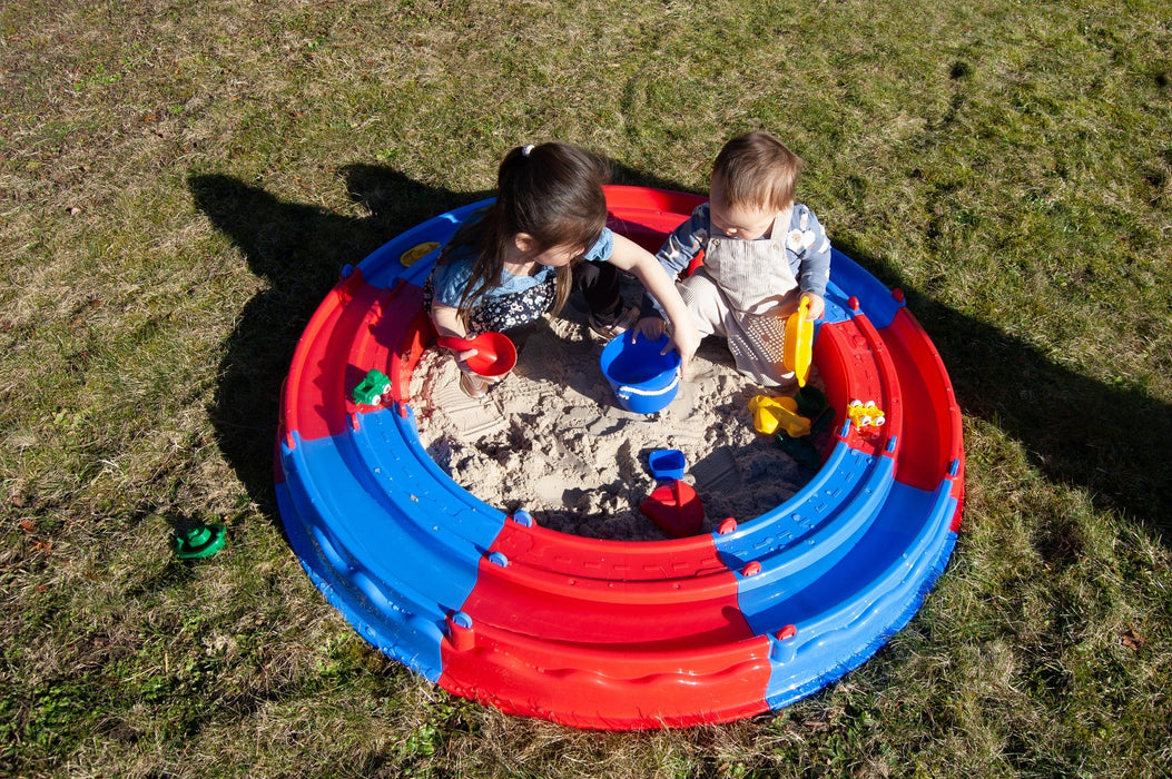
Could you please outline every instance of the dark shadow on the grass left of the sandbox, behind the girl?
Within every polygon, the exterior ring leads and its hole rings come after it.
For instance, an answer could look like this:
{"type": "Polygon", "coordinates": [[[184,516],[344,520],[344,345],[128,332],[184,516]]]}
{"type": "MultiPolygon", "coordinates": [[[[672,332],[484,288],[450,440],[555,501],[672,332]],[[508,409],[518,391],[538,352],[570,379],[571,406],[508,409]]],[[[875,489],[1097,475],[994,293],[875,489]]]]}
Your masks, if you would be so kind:
{"type": "Polygon", "coordinates": [[[275,518],[273,446],[281,384],[305,326],[341,268],[436,214],[488,197],[429,187],[394,171],[350,165],[347,190],[370,216],[341,217],[282,201],[227,176],[192,176],[196,207],[244,252],[266,281],[224,346],[209,408],[217,443],[248,496],[275,518]]]}

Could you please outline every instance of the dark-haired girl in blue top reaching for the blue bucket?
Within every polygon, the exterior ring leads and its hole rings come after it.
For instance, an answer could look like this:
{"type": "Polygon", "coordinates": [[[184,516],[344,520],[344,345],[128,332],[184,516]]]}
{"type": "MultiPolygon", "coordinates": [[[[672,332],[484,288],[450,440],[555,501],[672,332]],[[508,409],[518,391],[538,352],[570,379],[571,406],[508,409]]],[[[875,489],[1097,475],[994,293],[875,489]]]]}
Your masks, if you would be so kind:
{"type": "MultiPolygon", "coordinates": [[[[687,368],[700,334],[655,258],[607,228],[605,178],[598,159],[566,143],[505,155],[496,200],[459,227],[424,285],[438,334],[470,339],[497,330],[520,349],[546,310],[561,310],[571,286],[586,296],[592,329],[618,334],[619,268],[634,273],[662,307],[672,332],[667,349],[677,349],[687,368]]],[[[483,397],[503,377],[476,375],[465,362],[475,354],[454,357],[461,389],[483,397]]]]}

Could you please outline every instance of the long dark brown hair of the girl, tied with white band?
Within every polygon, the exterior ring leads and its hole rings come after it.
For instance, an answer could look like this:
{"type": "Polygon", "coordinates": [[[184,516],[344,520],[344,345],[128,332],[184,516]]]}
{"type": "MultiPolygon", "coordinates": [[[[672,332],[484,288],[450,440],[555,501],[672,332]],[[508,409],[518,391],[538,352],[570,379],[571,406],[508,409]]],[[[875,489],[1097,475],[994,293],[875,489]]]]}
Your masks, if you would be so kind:
{"type": "MultiPolygon", "coordinates": [[[[554,246],[590,248],[606,226],[602,184],[607,180],[601,159],[568,143],[517,146],[505,155],[497,171],[497,199],[456,231],[438,260],[443,264],[452,250],[465,247],[476,258],[459,300],[461,316],[466,317],[472,303],[499,283],[517,233],[533,237],[533,254],[554,246]]],[[[570,295],[570,265],[557,268],[554,314],[570,295]]]]}

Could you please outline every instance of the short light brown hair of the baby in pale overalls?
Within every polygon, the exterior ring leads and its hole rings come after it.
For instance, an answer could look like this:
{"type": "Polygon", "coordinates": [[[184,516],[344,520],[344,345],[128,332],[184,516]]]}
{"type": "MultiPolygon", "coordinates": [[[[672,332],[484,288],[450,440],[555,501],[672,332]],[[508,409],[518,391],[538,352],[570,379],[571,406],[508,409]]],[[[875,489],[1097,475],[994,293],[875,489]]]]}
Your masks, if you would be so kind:
{"type": "Polygon", "coordinates": [[[738,135],[713,163],[713,186],[721,185],[724,205],[750,205],[781,211],[793,203],[802,158],[769,135],[738,135]]]}

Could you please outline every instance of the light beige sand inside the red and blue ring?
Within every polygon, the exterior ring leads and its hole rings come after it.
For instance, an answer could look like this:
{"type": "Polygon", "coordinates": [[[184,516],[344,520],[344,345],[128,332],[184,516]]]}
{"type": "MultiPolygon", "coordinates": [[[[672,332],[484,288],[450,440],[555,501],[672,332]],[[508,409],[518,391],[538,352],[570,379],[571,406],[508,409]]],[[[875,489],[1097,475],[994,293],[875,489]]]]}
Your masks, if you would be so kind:
{"type": "MultiPolygon", "coordinates": [[[[411,397],[420,439],[457,484],[506,513],[588,538],[670,538],[639,511],[655,488],[647,464],[679,449],[704,508],[702,533],[748,521],[789,499],[813,472],[756,431],[749,399],[779,395],[738,374],[722,339],[703,341],[675,399],[640,415],[619,405],[574,299],[529,340],[485,398],[457,387],[447,351],[424,353],[411,397]]],[[[817,383],[812,377],[811,383],[817,383]]]]}

